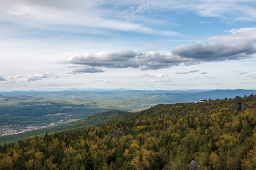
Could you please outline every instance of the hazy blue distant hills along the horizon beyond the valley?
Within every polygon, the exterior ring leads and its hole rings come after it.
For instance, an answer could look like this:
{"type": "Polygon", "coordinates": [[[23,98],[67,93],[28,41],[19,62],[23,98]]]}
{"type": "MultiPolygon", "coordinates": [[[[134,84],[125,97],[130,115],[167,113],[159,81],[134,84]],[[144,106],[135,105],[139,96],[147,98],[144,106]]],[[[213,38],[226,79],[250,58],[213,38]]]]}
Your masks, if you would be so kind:
{"type": "Polygon", "coordinates": [[[177,102],[197,102],[201,99],[225,99],[236,96],[256,94],[255,90],[126,90],[126,89],[70,89],[65,91],[12,91],[0,92],[2,96],[28,95],[33,97],[49,98],[78,98],[88,100],[124,100],[150,103],[177,103],[177,102]]]}

